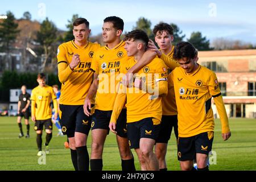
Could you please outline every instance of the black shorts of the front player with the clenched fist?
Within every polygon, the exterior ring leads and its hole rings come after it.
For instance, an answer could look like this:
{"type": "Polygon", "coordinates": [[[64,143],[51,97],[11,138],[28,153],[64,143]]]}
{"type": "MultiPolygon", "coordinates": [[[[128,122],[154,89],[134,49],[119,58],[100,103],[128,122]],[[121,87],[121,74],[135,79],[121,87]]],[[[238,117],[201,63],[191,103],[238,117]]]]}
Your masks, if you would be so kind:
{"type": "Polygon", "coordinates": [[[64,135],[75,137],[75,132],[89,134],[92,116],[84,114],[83,105],[60,104],[60,125],[64,135]]]}

